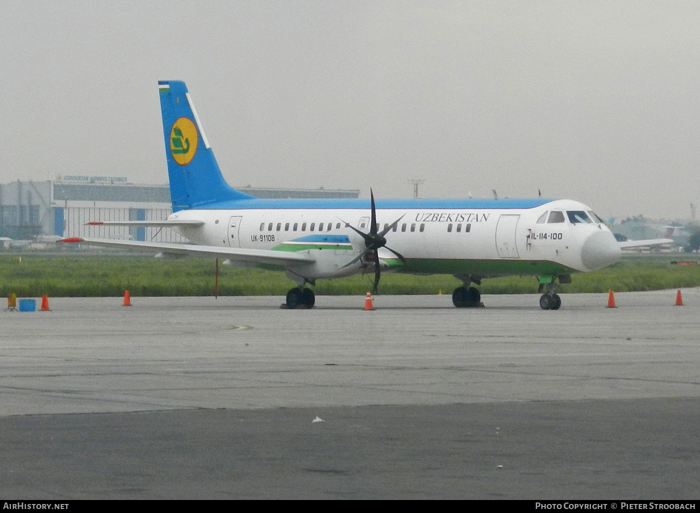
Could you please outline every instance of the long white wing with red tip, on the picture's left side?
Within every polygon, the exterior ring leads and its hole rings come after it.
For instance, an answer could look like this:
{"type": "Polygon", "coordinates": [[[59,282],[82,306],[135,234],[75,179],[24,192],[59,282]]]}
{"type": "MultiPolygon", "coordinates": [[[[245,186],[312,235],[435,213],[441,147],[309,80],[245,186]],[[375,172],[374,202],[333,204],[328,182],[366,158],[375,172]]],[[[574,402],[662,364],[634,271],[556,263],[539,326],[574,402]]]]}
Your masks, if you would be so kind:
{"type": "Polygon", "coordinates": [[[197,246],[195,244],[176,244],[172,242],[142,242],[125,241],[120,239],[85,239],[70,237],[59,242],[76,242],[92,246],[108,248],[136,249],[139,251],[155,251],[169,255],[193,255],[209,258],[227,258],[238,262],[252,264],[299,265],[312,264],[316,259],[305,251],[272,251],[269,249],[225,248],[219,246],[197,246]]]}

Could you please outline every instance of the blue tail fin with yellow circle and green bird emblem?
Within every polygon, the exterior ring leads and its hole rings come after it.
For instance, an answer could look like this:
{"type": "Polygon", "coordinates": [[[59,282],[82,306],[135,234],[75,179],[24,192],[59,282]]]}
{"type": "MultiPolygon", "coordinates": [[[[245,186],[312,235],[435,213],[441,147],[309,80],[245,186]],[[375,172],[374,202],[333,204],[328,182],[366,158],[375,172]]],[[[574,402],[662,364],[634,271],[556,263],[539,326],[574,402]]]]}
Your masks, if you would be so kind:
{"type": "Polygon", "coordinates": [[[185,83],[159,80],[158,90],[173,211],[250,199],[252,196],[230,187],[221,176],[185,83]]]}

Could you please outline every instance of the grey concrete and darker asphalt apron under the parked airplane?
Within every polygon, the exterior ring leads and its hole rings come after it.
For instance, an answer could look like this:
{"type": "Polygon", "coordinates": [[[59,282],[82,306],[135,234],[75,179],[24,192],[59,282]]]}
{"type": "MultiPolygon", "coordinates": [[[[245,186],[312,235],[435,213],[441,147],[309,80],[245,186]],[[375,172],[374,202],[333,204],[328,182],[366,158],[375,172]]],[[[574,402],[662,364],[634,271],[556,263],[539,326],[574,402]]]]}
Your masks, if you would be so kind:
{"type": "Polygon", "coordinates": [[[698,498],[682,292],[3,312],[0,497],[698,498]]]}

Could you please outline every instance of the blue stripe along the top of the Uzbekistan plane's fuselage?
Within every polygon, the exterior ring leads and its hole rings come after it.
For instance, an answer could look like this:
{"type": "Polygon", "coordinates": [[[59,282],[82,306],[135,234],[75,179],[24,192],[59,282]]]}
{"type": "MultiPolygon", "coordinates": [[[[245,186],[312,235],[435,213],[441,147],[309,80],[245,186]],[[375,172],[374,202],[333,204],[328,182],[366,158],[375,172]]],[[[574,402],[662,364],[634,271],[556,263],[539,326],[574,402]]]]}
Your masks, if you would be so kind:
{"type": "MultiPolygon", "coordinates": [[[[377,209],[533,209],[554,199],[377,199],[377,209]]],[[[369,199],[238,199],[198,205],[201,210],[370,209],[369,199]]],[[[193,209],[195,210],[195,209],[193,209]]]]}

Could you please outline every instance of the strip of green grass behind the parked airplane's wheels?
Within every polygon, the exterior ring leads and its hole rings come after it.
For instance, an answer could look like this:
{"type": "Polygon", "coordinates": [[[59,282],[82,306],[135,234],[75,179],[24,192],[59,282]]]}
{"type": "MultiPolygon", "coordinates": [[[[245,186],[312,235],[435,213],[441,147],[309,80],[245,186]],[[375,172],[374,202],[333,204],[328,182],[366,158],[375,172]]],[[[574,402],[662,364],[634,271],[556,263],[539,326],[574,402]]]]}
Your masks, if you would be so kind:
{"type": "MultiPolygon", "coordinates": [[[[604,293],[608,290],[659,290],[700,286],[699,265],[671,265],[688,255],[626,257],[617,264],[587,274],[574,274],[563,293],[604,293]]],[[[411,276],[385,273],[383,294],[451,294],[461,281],[452,276],[411,276]]],[[[284,295],[293,283],[282,272],[219,266],[219,295],[284,295]]],[[[318,295],[364,294],[370,276],[319,280],[318,295]]],[[[214,294],[214,260],[156,260],[147,256],[0,256],[0,288],[18,297],[204,296],[214,294]]],[[[537,293],[531,276],[484,280],[484,294],[537,293]]]]}

